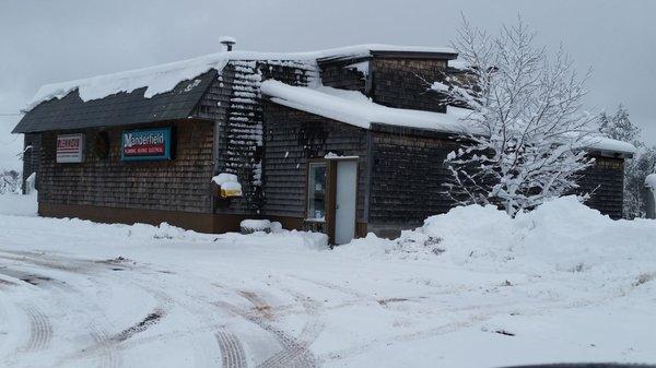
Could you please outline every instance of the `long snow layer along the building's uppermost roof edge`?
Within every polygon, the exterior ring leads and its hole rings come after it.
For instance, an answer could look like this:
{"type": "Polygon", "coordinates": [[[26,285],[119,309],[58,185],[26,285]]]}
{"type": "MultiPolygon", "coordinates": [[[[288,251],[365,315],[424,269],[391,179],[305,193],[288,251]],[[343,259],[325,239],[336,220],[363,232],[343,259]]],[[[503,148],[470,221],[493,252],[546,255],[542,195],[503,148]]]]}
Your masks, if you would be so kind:
{"type": "Polygon", "coordinates": [[[308,52],[216,52],[199,58],[169,62],[150,68],[74,80],[63,83],[46,84],[38,90],[25,109],[32,110],[42,102],[52,98],[62,98],[74,90],[79,90],[80,98],[82,98],[84,102],[103,98],[120,92],[130,93],[142,87],[147,87],[144,97],[150,98],[156,94],[169,92],[178,83],[186,80],[191,80],[211,69],[215,69],[221,72],[223,67],[225,67],[225,64],[227,64],[227,62],[231,60],[297,60],[316,64],[318,59],[365,57],[371,56],[372,52],[376,51],[456,54],[454,49],[446,47],[437,48],[378,44],[355,45],[308,52]]]}

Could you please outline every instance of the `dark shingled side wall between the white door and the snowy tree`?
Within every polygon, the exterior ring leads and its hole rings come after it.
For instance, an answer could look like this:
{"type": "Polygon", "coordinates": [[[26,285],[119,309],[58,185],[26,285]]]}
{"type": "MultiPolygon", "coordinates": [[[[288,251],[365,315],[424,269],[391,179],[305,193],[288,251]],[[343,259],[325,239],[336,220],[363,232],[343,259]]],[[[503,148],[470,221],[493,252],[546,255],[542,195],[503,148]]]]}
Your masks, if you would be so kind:
{"type": "Polygon", "coordinates": [[[446,155],[457,147],[447,134],[374,126],[367,230],[395,237],[454,204],[444,194],[446,155]]]}

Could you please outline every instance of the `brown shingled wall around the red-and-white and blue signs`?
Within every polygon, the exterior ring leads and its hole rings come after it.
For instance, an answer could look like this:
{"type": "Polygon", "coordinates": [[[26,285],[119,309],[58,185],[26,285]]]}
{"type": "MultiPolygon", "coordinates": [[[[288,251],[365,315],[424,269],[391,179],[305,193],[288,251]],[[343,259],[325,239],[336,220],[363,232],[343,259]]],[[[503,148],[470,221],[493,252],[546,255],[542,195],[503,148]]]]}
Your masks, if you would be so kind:
{"type": "MultiPolygon", "coordinates": [[[[42,135],[39,205],[94,205],[106,207],[210,213],[210,179],[213,173],[211,122],[186,120],[149,124],[173,126],[175,158],[163,162],[121,162],[122,129],[106,130],[109,154],[94,154],[97,129],[67,131],[84,133],[84,162],[58,164],[57,135],[42,135]]],[[[144,127],[130,126],[127,129],[144,127]]]]}

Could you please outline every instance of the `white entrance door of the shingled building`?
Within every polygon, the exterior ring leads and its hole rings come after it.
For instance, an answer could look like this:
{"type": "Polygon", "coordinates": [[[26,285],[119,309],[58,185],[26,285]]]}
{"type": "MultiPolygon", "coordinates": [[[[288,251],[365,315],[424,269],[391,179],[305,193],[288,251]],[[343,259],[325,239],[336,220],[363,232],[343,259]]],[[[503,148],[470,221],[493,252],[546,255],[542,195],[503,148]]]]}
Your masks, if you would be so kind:
{"type": "Polygon", "coordinates": [[[335,242],[347,244],[355,236],[355,203],[358,162],[337,163],[337,188],[335,199],[335,242]]]}

